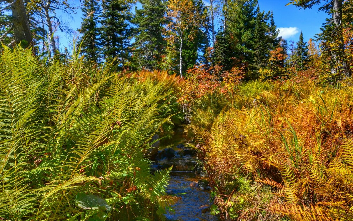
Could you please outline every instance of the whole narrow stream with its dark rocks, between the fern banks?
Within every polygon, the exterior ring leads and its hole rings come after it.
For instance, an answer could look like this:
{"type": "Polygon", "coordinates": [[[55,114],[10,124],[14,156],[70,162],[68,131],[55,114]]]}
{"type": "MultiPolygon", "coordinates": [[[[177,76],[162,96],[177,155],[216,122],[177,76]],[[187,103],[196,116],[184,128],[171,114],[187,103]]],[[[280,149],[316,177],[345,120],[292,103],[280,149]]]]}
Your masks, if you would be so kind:
{"type": "Polygon", "coordinates": [[[196,151],[186,148],[185,142],[187,137],[179,130],[171,139],[162,141],[158,151],[156,167],[173,166],[167,194],[180,197],[172,206],[175,212],[166,214],[167,221],[220,221],[219,216],[210,214],[212,189],[209,186],[204,188],[202,181],[198,183],[206,178],[201,176],[202,171],[197,175],[202,166],[196,159],[196,151]]]}

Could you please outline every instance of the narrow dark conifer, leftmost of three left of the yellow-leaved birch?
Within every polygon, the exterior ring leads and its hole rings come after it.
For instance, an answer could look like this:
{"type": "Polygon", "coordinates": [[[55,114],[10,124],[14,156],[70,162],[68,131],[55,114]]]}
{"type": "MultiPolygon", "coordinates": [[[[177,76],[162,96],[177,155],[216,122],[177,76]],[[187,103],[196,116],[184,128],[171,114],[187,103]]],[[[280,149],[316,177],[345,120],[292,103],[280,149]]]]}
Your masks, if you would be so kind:
{"type": "Polygon", "coordinates": [[[82,37],[78,44],[81,44],[81,52],[85,59],[99,62],[100,60],[100,31],[98,28],[98,17],[101,9],[99,1],[84,0],[82,4],[83,22],[78,29],[82,37]]]}

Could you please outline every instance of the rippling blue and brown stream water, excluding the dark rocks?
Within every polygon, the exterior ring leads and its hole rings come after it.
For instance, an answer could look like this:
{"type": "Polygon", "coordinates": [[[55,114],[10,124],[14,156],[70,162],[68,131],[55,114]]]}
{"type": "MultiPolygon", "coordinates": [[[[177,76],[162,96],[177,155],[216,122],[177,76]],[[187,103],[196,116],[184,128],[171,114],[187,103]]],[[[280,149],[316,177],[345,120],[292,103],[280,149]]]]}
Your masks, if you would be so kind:
{"type": "MultiPolygon", "coordinates": [[[[160,150],[165,148],[177,148],[178,144],[187,142],[187,138],[182,131],[178,131],[171,139],[161,142],[160,150]]],[[[182,159],[178,154],[172,160],[182,159]]],[[[193,156],[193,158],[195,158],[193,156]]],[[[168,221],[219,221],[218,216],[210,214],[210,206],[213,204],[211,199],[211,188],[202,190],[198,187],[197,182],[204,179],[200,175],[196,175],[195,171],[173,171],[170,176],[167,194],[180,197],[180,200],[172,206],[174,213],[167,213],[168,221]]]]}

